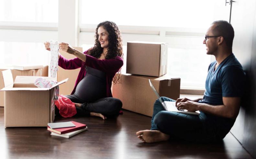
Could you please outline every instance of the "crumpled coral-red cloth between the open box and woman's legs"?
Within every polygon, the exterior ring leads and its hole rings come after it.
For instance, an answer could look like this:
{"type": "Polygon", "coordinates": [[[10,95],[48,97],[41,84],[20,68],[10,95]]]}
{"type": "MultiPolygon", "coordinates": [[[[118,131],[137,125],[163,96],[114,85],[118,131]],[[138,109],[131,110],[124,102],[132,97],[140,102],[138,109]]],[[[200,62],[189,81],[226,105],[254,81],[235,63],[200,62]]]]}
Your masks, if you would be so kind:
{"type": "Polygon", "coordinates": [[[75,103],[63,95],[60,95],[58,100],[55,100],[54,103],[60,110],[59,112],[62,117],[72,117],[77,113],[75,103]]]}

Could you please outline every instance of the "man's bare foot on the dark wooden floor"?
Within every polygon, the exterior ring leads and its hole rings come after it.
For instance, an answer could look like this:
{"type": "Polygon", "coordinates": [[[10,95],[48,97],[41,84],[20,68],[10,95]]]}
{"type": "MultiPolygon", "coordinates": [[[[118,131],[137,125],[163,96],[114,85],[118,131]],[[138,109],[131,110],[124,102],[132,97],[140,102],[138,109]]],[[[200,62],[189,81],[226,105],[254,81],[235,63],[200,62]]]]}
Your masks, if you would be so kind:
{"type": "Polygon", "coordinates": [[[136,133],[138,138],[144,143],[154,143],[169,140],[170,136],[159,130],[142,130],[136,133]]]}

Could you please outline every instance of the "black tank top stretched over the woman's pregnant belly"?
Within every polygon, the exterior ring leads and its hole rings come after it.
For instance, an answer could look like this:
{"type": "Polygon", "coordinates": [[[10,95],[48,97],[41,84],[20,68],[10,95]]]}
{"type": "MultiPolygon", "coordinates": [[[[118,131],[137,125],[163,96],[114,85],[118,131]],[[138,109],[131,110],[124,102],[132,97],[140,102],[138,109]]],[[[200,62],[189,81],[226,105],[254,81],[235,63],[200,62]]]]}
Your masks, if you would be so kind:
{"type": "Polygon", "coordinates": [[[86,74],[78,83],[74,95],[83,102],[106,97],[106,73],[88,66],[85,70],[86,74]]]}

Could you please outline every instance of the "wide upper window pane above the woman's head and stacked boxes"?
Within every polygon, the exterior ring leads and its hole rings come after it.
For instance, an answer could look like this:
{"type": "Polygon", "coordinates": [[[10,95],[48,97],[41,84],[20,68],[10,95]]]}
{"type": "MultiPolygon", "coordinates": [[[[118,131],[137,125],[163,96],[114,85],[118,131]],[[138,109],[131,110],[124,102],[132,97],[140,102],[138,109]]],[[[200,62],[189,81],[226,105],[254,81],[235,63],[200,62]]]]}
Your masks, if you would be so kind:
{"type": "Polygon", "coordinates": [[[110,20],[118,25],[206,28],[214,16],[210,0],[80,0],[80,6],[82,24],[110,20]]]}

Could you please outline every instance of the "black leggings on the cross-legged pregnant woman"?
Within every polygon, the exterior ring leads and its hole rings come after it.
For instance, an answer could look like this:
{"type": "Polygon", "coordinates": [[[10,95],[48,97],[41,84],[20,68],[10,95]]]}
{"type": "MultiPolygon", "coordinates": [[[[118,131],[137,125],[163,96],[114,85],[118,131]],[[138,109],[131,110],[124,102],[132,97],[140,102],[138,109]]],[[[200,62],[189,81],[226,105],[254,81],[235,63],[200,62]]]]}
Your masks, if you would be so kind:
{"type": "MultiPolygon", "coordinates": [[[[73,103],[82,103],[74,95],[66,95],[73,103]]],[[[90,116],[90,112],[101,113],[107,117],[117,116],[122,108],[121,100],[112,97],[100,98],[94,102],[82,103],[81,108],[76,107],[79,116],[90,116]]],[[[55,114],[59,109],[55,106],[55,114]]]]}

